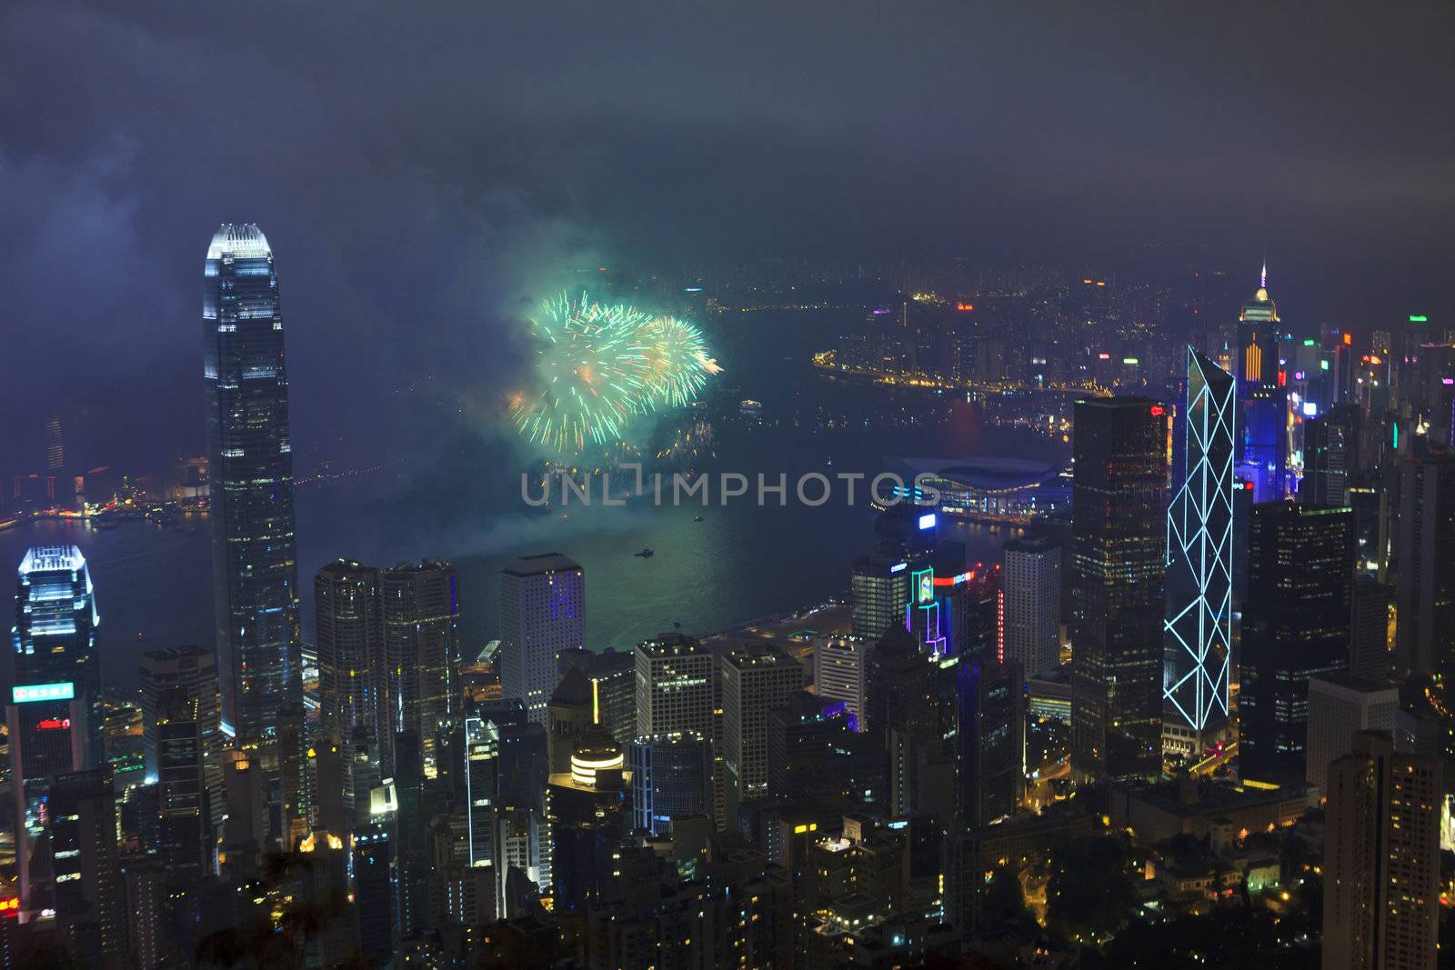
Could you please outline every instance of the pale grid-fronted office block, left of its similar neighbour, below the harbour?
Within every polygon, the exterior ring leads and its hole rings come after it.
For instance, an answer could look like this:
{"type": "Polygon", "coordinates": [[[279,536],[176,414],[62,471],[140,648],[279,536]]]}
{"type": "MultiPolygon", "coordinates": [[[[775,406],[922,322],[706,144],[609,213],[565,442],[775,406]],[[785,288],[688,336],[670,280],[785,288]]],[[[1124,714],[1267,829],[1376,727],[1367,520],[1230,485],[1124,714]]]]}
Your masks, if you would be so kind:
{"type": "Polygon", "coordinates": [[[639,643],[636,659],[637,737],[713,736],[711,650],[697,640],[663,634],[639,643]]]}

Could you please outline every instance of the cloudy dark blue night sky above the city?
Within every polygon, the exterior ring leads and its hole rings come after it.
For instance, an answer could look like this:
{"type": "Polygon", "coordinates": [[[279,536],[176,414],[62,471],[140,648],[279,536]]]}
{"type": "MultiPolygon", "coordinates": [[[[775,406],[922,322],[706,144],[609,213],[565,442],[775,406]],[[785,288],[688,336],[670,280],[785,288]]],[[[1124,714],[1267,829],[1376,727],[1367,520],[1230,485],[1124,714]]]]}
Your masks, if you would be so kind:
{"type": "Polygon", "coordinates": [[[393,428],[423,372],[489,400],[511,316],[597,260],[1251,279],[1266,249],[1286,320],[1440,311],[1452,28],[1449,3],[9,0],[0,455],[60,406],[144,460],[199,451],[220,221],[274,244],[300,441],[393,428]]]}

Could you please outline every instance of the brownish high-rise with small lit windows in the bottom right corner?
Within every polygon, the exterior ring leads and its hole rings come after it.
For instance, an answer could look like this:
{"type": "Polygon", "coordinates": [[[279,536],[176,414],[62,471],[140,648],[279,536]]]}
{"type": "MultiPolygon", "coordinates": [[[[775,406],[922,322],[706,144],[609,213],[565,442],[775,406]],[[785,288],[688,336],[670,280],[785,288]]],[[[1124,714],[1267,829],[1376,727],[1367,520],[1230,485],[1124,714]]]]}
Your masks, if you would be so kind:
{"type": "Polygon", "coordinates": [[[1324,970],[1430,970],[1440,912],[1440,763],[1355,734],[1328,768],[1324,970]]]}

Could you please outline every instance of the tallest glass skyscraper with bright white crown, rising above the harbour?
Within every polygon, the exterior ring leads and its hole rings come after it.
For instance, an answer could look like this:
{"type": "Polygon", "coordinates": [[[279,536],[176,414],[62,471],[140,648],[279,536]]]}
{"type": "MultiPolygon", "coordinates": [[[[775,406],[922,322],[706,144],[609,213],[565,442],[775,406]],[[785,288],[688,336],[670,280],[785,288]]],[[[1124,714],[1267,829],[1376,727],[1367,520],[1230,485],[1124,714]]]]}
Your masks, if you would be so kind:
{"type": "Polygon", "coordinates": [[[223,727],[271,739],[303,697],[292,446],[272,249],[252,223],[207,247],[202,291],[212,606],[223,727]]]}

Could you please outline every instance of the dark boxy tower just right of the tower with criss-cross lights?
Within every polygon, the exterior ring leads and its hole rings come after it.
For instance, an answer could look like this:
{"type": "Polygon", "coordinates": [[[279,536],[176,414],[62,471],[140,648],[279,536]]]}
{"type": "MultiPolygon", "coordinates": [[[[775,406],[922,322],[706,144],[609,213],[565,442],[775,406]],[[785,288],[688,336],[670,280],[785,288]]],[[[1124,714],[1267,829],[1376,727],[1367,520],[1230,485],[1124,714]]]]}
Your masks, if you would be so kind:
{"type": "Polygon", "coordinates": [[[1308,681],[1349,668],[1355,516],[1269,502],[1250,519],[1238,762],[1244,778],[1302,778],[1308,681]]]}

